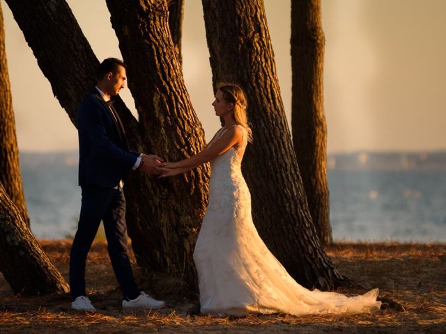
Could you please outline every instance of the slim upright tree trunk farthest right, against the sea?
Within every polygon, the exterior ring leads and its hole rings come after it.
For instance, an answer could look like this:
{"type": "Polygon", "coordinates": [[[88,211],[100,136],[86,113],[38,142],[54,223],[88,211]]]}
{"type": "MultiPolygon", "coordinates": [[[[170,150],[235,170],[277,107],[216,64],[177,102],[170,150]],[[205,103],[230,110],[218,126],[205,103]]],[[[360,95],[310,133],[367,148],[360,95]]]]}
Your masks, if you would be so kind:
{"type": "Polygon", "coordinates": [[[292,0],[293,144],[314,227],[319,240],[331,244],[327,125],[323,111],[324,45],[321,0],[292,0]]]}

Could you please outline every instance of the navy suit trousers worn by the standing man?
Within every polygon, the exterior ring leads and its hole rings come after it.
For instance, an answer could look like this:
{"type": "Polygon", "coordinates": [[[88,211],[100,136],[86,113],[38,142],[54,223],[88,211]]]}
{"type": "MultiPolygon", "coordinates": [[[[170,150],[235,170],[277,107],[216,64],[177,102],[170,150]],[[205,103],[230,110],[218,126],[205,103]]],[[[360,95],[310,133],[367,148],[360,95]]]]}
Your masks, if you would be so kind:
{"type": "Polygon", "coordinates": [[[127,255],[124,193],[122,190],[100,186],[82,187],[79,225],[70,252],[72,297],[86,296],[85,262],[101,220],[104,223],[109,257],[124,299],[135,299],[139,296],[139,289],[134,283],[127,255]]]}

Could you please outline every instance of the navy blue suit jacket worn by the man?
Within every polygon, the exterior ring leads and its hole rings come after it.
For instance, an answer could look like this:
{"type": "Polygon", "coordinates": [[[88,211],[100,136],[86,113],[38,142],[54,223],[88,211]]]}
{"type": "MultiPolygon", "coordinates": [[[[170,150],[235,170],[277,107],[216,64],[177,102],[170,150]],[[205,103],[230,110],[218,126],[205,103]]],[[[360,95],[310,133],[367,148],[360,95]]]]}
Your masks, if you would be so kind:
{"type": "Polygon", "coordinates": [[[137,161],[107,103],[95,89],[77,112],[79,185],[114,188],[137,161]]]}

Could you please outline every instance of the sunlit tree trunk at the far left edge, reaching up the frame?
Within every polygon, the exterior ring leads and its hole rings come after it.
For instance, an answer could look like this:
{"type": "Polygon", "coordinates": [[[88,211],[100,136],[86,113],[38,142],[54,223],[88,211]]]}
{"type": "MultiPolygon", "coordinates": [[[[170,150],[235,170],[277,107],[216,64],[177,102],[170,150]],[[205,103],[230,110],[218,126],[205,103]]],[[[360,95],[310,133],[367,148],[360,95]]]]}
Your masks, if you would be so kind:
{"type": "Polygon", "coordinates": [[[6,61],[5,31],[0,4],[0,182],[29,225],[28,210],[20,175],[19,149],[15,135],[13,98],[11,97],[8,63],[6,61]]]}

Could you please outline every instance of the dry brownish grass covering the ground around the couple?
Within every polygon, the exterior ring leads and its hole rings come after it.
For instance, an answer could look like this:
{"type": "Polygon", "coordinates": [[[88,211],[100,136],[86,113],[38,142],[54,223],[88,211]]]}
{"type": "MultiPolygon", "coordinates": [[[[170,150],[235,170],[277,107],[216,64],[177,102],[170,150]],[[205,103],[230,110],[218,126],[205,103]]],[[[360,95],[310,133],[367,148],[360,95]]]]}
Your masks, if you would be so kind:
{"type": "MultiPolygon", "coordinates": [[[[43,248],[68,276],[70,241],[42,241],[43,248]]],[[[69,296],[13,296],[0,275],[0,333],[446,333],[446,245],[340,243],[327,248],[337,268],[358,287],[348,294],[380,288],[380,296],[403,304],[375,314],[292,317],[251,315],[231,319],[190,317],[190,303],[169,299],[158,312],[123,312],[103,243],[93,245],[87,264],[91,299],[99,312],[70,310],[69,296]]],[[[143,276],[138,270],[137,276],[143,276]]],[[[151,289],[147,289],[150,292],[151,289]]]]}

